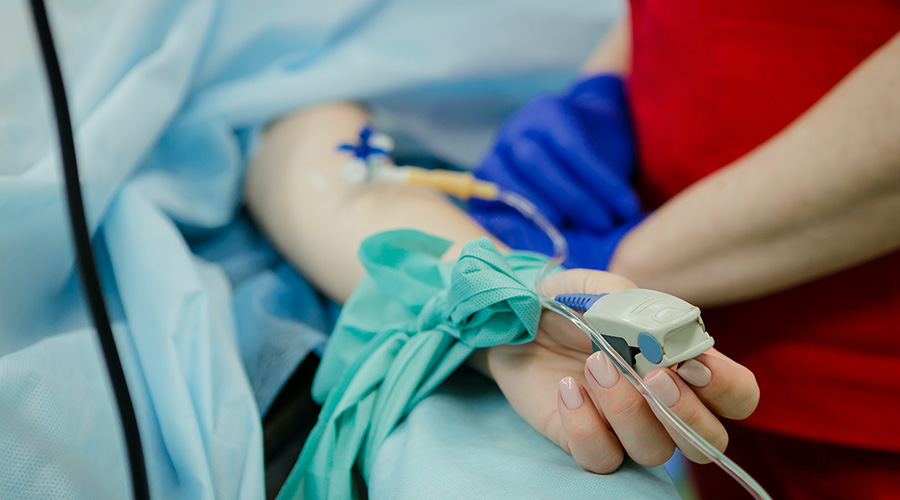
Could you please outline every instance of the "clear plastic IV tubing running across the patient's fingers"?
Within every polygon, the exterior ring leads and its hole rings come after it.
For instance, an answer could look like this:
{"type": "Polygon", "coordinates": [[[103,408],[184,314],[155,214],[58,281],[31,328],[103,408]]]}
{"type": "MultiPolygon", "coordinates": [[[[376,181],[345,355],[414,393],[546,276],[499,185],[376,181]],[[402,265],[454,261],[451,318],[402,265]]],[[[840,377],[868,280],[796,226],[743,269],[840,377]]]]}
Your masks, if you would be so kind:
{"type": "Polygon", "coordinates": [[[550,222],[547,217],[530,201],[522,196],[511,192],[500,190],[497,193],[496,200],[504,203],[521,213],[525,218],[531,220],[538,228],[540,228],[550,241],[553,243],[553,257],[548,260],[538,272],[534,281],[534,290],[540,299],[541,306],[545,309],[553,311],[563,317],[568,318],[578,328],[586,333],[594,342],[603,349],[603,352],[612,360],[616,368],[631,382],[631,385],[644,396],[650,408],[656,416],[671,429],[677,432],[688,444],[699,450],[710,461],[718,465],[722,470],[728,473],[735,481],[740,483],[754,498],[759,500],[771,500],[771,496],[763,489],[762,486],[744,469],[740,468],[730,458],[726,457],[722,452],[714,448],[700,434],[697,434],[687,424],[682,421],[678,415],[672,412],[668,406],[663,404],[644,383],[643,379],[638,376],[631,365],[612,348],[611,345],[603,338],[603,335],[596,328],[584,320],[581,315],[577,314],[570,307],[557,302],[544,293],[544,279],[550,274],[550,271],[562,264],[569,253],[569,247],[566,239],[559,232],[559,229],[550,222]]]}

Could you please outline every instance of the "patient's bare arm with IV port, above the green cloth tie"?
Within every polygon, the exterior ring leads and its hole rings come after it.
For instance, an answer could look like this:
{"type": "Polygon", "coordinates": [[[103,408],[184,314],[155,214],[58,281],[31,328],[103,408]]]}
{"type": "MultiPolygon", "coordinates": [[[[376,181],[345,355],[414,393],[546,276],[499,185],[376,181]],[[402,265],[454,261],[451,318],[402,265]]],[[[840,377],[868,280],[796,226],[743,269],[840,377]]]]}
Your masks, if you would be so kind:
{"type": "Polygon", "coordinates": [[[266,131],[247,173],[250,211],[279,251],[332,298],[363,277],[359,244],[380,231],[414,228],[461,246],[485,235],[443,196],[422,188],[343,181],[341,142],[355,142],[368,117],[352,104],[297,112],[266,131]]]}

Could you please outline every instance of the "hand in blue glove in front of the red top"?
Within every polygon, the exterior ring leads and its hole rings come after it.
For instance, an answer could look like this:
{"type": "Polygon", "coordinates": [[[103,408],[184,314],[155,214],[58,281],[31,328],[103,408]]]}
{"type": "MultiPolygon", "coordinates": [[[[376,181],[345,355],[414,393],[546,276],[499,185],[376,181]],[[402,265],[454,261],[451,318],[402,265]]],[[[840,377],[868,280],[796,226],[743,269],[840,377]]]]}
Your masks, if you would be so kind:
{"type": "MultiPolygon", "coordinates": [[[[569,240],[567,265],[603,269],[619,239],[642,218],[631,185],[634,169],[622,80],[600,75],[517,111],[475,175],[537,205],[569,240]]],[[[551,251],[544,234],[508,207],[473,201],[469,212],[513,248],[551,251]]]]}

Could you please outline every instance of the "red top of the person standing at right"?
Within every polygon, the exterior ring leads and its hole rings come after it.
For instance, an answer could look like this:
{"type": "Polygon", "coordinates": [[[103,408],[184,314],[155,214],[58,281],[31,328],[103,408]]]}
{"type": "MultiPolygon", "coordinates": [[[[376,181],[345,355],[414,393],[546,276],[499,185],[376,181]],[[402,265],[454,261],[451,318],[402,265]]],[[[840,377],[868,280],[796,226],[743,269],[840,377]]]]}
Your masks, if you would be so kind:
{"type": "MultiPolygon", "coordinates": [[[[649,208],[772,137],[900,30],[900,2],[887,0],[631,8],[628,91],[649,208]]],[[[748,425],[900,451],[900,253],[704,319],[759,381],[748,425]]]]}

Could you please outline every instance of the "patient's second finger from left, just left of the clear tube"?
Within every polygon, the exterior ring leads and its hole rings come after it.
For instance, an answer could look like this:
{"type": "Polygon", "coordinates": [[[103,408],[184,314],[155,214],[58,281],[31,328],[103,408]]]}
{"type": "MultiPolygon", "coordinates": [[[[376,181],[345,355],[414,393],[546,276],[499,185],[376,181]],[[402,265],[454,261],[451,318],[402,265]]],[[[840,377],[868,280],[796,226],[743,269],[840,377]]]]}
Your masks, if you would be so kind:
{"type": "Polygon", "coordinates": [[[665,427],[605,354],[595,352],[588,358],[585,377],[600,410],[632,460],[656,467],[672,457],[675,443],[665,427]]]}

